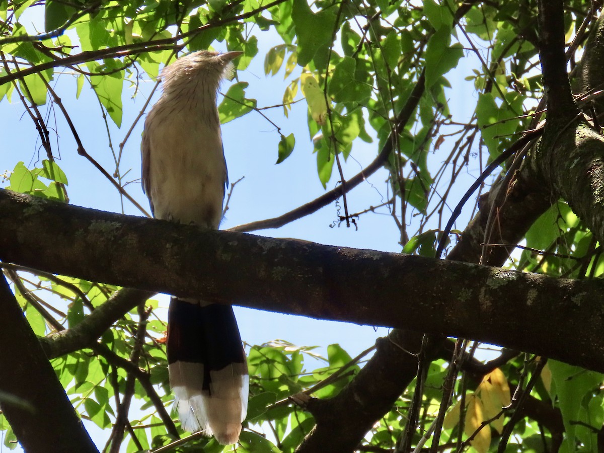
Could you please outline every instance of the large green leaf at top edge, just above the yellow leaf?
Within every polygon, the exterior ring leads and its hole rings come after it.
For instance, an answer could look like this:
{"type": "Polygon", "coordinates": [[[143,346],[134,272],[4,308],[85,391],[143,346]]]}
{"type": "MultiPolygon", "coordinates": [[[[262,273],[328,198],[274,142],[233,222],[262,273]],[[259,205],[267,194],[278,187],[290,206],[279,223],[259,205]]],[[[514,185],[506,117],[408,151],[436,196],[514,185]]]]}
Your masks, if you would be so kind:
{"type": "Polygon", "coordinates": [[[298,65],[306,66],[312,61],[317,69],[327,67],[329,48],[335,37],[335,9],[315,14],[306,0],[294,0],[292,19],[298,34],[298,65]]]}

